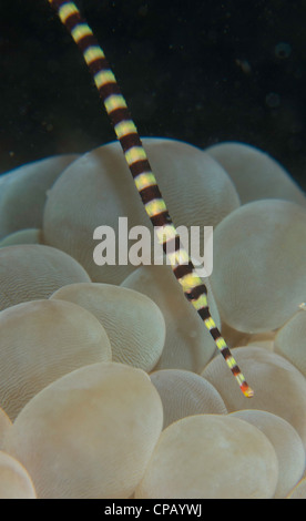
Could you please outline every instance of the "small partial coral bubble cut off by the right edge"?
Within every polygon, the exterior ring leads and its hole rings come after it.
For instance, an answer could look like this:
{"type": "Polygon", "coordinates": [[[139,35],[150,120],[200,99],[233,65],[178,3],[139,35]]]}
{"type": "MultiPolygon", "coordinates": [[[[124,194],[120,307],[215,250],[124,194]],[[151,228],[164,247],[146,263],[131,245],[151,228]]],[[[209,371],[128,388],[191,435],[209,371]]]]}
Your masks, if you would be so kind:
{"type": "Polygon", "coordinates": [[[306,313],[298,311],[275,337],[275,350],[306,376],[306,313]]]}

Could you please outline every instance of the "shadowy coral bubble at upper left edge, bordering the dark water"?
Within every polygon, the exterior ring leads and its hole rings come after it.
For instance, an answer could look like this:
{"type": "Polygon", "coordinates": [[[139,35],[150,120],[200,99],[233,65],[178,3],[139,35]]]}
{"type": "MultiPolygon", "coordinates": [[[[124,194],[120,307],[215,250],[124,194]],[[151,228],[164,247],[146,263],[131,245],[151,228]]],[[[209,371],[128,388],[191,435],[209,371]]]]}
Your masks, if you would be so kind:
{"type": "Polygon", "coordinates": [[[79,155],[59,155],[1,175],[0,237],[18,229],[41,228],[48,190],[79,155]]]}

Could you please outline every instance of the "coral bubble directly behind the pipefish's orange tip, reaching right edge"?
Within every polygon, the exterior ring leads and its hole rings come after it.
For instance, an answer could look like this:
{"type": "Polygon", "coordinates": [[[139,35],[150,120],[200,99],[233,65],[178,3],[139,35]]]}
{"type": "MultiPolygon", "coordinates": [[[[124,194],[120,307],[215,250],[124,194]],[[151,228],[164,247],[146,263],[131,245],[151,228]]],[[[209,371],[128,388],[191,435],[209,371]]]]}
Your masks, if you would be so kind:
{"type": "Polygon", "coordinates": [[[222,357],[214,358],[204,369],[206,378],[221,394],[230,412],[258,409],[288,421],[306,447],[306,380],[285,358],[261,347],[232,350],[254,397],[246,399],[222,357]]]}

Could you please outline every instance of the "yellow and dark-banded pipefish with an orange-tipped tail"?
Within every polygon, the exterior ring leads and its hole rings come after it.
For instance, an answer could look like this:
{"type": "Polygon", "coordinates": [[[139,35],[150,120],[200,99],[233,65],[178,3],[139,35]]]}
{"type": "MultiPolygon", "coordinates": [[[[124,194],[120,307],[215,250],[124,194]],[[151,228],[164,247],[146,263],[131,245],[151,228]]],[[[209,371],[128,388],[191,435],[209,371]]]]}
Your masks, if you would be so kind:
{"type": "Polygon", "coordinates": [[[186,298],[203,319],[242,392],[247,398],[251,398],[254,391],[246,382],[225,339],[211,316],[207,304],[207,288],[196,273],[170,217],[136,126],[130,115],[126,102],[103,50],[73,2],[68,0],[49,0],[49,2],[57,10],[61,22],[67,27],[83,53],[100,98],[114,126],[116,137],[122,146],[144,208],[154,226],[159,242],[170,260],[174,276],[182,286],[186,298]]]}

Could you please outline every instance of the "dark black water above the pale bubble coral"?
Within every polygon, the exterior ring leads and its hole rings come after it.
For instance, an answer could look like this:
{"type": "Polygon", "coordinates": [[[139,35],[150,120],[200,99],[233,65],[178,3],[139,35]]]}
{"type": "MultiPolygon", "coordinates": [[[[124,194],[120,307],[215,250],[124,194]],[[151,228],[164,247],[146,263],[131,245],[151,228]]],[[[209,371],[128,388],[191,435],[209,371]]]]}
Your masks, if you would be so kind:
{"type": "MultiPolygon", "coordinates": [[[[306,0],[80,0],[141,135],[243,141],[306,190],[306,0]]],[[[0,0],[0,173],[113,141],[47,0],[0,0]]]]}

